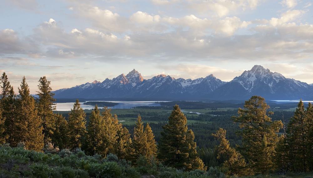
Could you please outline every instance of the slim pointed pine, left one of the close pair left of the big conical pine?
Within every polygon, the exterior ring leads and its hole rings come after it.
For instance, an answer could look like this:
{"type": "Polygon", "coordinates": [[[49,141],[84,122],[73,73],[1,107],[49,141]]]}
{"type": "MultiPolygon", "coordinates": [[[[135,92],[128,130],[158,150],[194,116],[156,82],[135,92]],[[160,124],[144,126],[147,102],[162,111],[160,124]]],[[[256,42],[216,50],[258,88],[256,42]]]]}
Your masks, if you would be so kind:
{"type": "Polygon", "coordinates": [[[140,155],[147,156],[147,135],[144,132],[144,126],[140,114],[138,114],[136,125],[133,131],[133,160],[137,160],[140,155]]]}

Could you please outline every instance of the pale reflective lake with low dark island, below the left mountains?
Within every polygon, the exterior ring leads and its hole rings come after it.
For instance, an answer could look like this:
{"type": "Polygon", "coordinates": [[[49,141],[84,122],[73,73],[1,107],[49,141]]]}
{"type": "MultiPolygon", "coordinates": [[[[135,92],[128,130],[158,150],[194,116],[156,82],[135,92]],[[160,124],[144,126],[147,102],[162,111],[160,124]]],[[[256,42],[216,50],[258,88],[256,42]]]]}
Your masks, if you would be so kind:
{"type": "MultiPolygon", "coordinates": [[[[88,102],[88,101],[86,101],[88,102]]],[[[167,102],[167,101],[104,101],[104,102],[112,102],[118,103],[115,106],[108,107],[111,109],[130,109],[137,106],[161,106],[159,103],[156,102],[167,102]]],[[[83,109],[94,109],[95,106],[85,105],[85,102],[80,102],[80,107],[83,109]]],[[[57,111],[70,111],[73,108],[74,102],[68,103],[54,103],[56,104],[57,111]]],[[[102,107],[99,107],[102,109],[102,107]]]]}

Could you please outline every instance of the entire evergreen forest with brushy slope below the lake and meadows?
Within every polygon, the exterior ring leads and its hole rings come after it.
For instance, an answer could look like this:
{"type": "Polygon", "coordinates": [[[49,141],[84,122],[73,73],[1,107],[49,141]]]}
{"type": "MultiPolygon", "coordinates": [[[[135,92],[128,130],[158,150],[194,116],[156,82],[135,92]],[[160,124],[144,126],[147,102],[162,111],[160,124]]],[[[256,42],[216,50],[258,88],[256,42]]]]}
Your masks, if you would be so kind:
{"type": "Polygon", "coordinates": [[[108,108],[86,114],[79,100],[68,115],[57,114],[51,91],[42,77],[33,97],[23,77],[16,94],[3,73],[0,177],[313,177],[310,103],[273,115],[252,96],[236,112],[192,118],[200,125],[172,103],[167,117],[149,117],[162,122],[137,113],[135,125],[123,125],[108,108]]]}

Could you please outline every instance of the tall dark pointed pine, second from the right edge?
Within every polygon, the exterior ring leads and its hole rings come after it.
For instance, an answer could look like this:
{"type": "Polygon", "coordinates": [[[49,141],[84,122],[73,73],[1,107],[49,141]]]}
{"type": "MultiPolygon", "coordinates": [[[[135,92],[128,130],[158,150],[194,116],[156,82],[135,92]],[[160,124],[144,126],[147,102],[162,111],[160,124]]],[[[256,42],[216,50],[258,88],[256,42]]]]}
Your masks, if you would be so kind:
{"type": "Polygon", "coordinates": [[[302,100],[295,110],[294,116],[290,119],[287,127],[288,157],[291,169],[304,172],[307,170],[307,136],[308,130],[305,128],[307,117],[302,100]]]}

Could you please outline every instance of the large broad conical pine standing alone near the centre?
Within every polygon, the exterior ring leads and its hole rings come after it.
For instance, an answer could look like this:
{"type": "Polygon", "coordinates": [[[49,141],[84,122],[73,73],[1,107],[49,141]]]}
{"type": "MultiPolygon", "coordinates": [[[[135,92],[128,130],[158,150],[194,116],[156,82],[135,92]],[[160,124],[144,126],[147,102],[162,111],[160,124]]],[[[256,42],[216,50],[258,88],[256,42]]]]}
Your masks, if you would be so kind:
{"type": "Polygon", "coordinates": [[[161,132],[158,158],[177,169],[206,170],[196,151],[194,134],[188,130],[187,118],[178,105],[174,106],[168,120],[161,132]]]}

